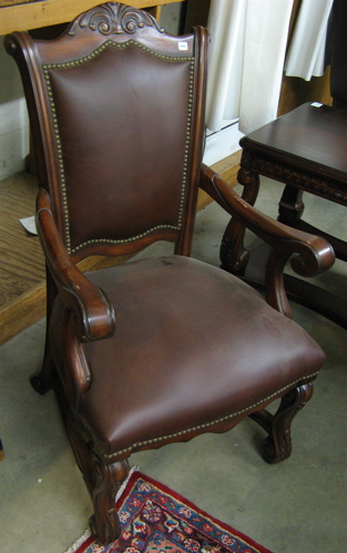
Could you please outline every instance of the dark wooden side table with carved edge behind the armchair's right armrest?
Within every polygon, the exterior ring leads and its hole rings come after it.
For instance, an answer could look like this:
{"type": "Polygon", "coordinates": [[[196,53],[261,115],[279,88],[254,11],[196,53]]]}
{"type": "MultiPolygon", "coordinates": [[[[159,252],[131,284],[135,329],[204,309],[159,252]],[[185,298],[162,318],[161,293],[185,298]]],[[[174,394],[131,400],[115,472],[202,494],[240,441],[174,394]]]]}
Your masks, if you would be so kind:
{"type": "MultiPolygon", "coordinates": [[[[237,180],[244,186],[243,198],[254,205],[259,175],[284,183],[278,221],[324,236],[336,257],[346,262],[346,242],[323,232],[319,225],[307,224],[302,216],[304,192],[347,206],[347,112],[306,103],[244,136],[239,144],[243,153],[237,180]]],[[[269,252],[262,247],[249,255],[244,233],[243,225],[232,219],[222,240],[222,266],[262,288],[269,252]]],[[[347,301],[340,297],[290,275],[285,275],[285,288],[289,299],[347,328],[347,301]]]]}

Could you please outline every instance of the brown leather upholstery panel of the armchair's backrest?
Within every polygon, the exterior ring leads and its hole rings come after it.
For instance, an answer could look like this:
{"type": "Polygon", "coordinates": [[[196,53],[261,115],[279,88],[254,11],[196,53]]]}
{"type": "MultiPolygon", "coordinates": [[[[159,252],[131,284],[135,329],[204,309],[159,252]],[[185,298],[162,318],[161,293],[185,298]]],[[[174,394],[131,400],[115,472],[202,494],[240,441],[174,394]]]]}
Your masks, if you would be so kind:
{"type": "Polygon", "coordinates": [[[180,227],[184,188],[176,183],[185,176],[191,64],[184,58],[162,60],[134,44],[108,47],[83,70],[50,71],[72,250],[95,236],[121,240],[161,225],[180,227]],[[116,194],[115,175],[121,175],[116,194]]]}

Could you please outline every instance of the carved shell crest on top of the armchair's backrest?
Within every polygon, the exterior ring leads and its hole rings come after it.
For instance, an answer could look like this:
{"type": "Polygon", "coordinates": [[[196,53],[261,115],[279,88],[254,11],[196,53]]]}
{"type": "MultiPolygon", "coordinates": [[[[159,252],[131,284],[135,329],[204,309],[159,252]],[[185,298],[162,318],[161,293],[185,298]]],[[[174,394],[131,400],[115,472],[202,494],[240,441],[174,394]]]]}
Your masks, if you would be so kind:
{"type": "Polygon", "coordinates": [[[89,27],[101,34],[133,34],[137,29],[154,27],[159,32],[164,32],[157,21],[145,11],[123,6],[119,2],[108,2],[82,13],[71,24],[68,34],[73,37],[78,27],[89,27]]]}

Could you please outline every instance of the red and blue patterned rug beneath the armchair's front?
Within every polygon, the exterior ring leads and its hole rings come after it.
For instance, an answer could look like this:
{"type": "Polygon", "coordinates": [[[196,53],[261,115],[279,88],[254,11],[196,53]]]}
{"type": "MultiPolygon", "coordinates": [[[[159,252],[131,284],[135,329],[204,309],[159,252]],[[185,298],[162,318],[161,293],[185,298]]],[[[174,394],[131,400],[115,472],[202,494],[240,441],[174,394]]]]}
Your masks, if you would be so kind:
{"type": "Polygon", "coordinates": [[[271,553],[139,471],[118,500],[120,539],[98,545],[85,532],[65,553],[271,553]]]}

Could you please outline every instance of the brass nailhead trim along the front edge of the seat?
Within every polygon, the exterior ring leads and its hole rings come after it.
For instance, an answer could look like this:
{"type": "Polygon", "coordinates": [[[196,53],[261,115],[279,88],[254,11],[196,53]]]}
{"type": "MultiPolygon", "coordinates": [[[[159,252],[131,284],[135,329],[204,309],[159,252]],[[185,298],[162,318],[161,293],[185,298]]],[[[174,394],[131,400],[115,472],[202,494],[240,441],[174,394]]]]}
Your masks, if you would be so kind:
{"type": "Polygon", "coordinates": [[[271,396],[267,396],[266,398],[261,399],[256,403],[253,403],[252,406],[248,406],[244,409],[241,409],[239,411],[237,411],[235,413],[227,414],[226,417],[222,417],[221,419],[214,420],[212,422],[206,422],[205,424],[198,424],[196,427],[188,428],[187,430],[182,430],[181,432],[176,432],[176,433],[172,433],[172,434],[167,434],[167,436],[162,436],[160,438],[153,438],[152,440],[145,440],[142,442],[135,442],[130,448],[125,448],[125,449],[116,451],[114,453],[105,453],[103,451],[103,449],[101,448],[101,446],[99,444],[99,442],[96,441],[95,436],[94,436],[93,431],[91,430],[90,426],[88,424],[86,420],[84,419],[84,417],[82,417],[81,414],[78,414],[78,418],[81,421],[81,423],[84,426],[88,433],[92,437],[93,442],[94,442],[94,448],[98,450],[98,452],[104,459],[110,461],[110,460],[112,460],[112,458],[116,459],[119,455],[123,455],[124,453],[131,454],[133,451],[137,451],[139,449],[141,449],[143,447],[151,446],[154,443],[164,442],[164,441],[170,440],[172,438],[178,438],[180,436],[186,436],[190,432],[196,432],[197,430],[204,430],[204,429],[206,429],[206,431],[208,431],[207,429],[213,427],[214,424],[220,424],[222,422],[226,422],[227,420],[231,420],[235,417],[238,417],[238,414],[246,413],[247,411],[253,412],[258,406],[261,406],[263,403],[271,402],[272,399],[275,399],[278,396],[280,397],[282,392],[285,392],[286,390],[290,390],[290,389],[295,388],[298,382],[304,382],[305,380],[315,379],[317,377],[317,375],[318,375],[318,372],[314,372],[313,375],[309,375],[307,377],[299,378],[299,379],[295,380],[294,382],[280,388],[279,390],[272,393],[271,396]]]}

